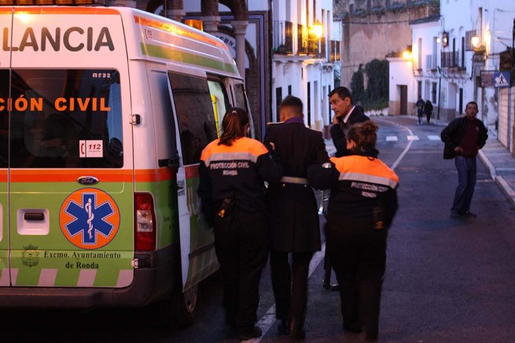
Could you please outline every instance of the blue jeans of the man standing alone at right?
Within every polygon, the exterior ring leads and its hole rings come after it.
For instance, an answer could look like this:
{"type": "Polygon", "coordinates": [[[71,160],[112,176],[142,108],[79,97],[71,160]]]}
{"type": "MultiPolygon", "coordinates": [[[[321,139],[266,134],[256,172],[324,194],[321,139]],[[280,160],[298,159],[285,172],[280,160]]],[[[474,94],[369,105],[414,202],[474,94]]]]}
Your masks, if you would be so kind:
{"type": "Polygon", "coordinates": [[[454,196],[453,208],[450,211],[460,214],[468,212],[476,186],[476,158],[456,156],[455,165],[458,171],[458,187],[454,196]]]}

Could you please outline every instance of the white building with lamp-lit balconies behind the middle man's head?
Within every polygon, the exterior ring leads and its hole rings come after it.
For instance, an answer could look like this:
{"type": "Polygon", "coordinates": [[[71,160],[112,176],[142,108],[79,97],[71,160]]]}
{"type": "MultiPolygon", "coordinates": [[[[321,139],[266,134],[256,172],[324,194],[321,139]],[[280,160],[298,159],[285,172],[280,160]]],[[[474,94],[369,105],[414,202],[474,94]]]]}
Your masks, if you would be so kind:
{"type": "MultiPolygon", "coordinates": [[[[249,6],[253,1],[249,1],[249,6]]],[[[339,72],[341,25],[333,23],[332,0],[273,0],[273,62],[270,121],[287,95],[302,99],[304,122],[323,130],[331,123],[328,93],[339,72]],[[315,29],[321,25],[321,36],[315,29]]]]}

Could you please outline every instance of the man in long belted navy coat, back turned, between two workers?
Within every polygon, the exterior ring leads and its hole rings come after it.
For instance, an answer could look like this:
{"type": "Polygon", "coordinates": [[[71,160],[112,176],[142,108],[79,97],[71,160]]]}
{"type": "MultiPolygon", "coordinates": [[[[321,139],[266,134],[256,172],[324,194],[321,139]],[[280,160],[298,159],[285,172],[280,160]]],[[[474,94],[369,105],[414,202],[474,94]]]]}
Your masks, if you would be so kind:
{"type": "Polygon", "coordinates": [[[315,161],[329,161],[321,132],[304,125],[302,107],[301,99],[286,97],[279,105],[282,123],[268,125],[264,137],[269,150],[275,146],[284,169],[281,182],[267,190],[275,316],[281,320],[279,331],[295,339],[305,336],[309,264],[313,252],[320,250],[317,200],[308,185],[306,169],[315,161]]]}

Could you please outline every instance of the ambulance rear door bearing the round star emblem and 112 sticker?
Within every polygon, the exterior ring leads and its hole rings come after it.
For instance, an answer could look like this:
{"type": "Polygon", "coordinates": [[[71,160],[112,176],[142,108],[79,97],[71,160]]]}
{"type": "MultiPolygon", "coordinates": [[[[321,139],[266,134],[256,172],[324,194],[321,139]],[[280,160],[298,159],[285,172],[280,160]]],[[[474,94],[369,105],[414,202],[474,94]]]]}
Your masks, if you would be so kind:
{"type": "Polygon", "coordinates": [[[17,8],[9,31],[10,284],[126,287],[134,170],[121,16],[17,8]]]}

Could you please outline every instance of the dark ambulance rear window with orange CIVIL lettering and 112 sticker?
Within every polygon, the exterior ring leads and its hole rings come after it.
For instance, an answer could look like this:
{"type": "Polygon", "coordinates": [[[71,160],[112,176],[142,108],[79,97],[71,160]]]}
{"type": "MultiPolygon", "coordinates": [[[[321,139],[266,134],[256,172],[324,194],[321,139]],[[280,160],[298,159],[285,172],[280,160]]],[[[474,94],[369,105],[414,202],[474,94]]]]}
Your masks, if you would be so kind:
{"type": "Polygon", "coordinates": [[[123,166],[115,69],[13,69],[11,85],[10,167],[123,166]]]}

